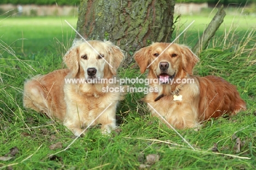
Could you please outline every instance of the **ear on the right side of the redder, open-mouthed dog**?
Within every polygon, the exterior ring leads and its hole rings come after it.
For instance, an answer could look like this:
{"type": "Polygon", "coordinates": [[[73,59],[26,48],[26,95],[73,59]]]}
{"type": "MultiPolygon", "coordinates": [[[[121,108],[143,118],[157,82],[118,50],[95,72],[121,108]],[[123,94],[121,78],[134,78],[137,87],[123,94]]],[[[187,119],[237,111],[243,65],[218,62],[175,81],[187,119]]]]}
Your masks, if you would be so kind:
{"type": "Polygon", "coordinates": [[[188,74],[192,74],[193,68],[197,62],[199,62],[199,57],[197,57],[193,51],[189,49],[186,45],[181,45],[182,52],[182,67],[188,74]]]}

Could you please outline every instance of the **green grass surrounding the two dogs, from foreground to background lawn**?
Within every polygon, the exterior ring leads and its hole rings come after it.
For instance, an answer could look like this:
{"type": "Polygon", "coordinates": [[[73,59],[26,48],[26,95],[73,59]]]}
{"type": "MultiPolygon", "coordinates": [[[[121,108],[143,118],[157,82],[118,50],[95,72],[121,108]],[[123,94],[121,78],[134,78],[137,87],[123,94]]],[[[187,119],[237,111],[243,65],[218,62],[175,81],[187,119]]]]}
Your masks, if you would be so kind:
{"type": "MultiPolygon", "coordinates": [[[[146,104],[138,102],[143,93],[129,93],[120,103],[121,131],[111,136],[102,136],[98,127],[92,127],[74,141],[63,125],[25,110],[24,80],[65,67],[62,56],[75,34],[64,20],[74,27],[77,22],[74,17],[0,19],[0,169],[256,168],[255,17],[226,16],[217,36],[200,54],[195,74],[219,75],[230,81],[248,109],[231,118],[205,122],[198,132],[178,130],[194,149],[149,116],[146,104]]],[[[193,46],[211,19],[182,16],[174,34],[193,20],[177,42],[193,46]]],[[[119,69],[120,77],[138,75],[138,69],[119,69]]]]}

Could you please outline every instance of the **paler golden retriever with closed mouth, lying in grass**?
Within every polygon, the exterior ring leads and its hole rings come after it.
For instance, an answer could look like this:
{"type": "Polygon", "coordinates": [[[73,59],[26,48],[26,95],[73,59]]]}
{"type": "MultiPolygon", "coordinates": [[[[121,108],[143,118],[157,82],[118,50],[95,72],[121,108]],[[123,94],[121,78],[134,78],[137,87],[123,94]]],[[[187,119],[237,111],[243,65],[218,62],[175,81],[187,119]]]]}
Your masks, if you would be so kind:
{"type": "Polygon", "coordinates": [[[123,96],[120,92],[102,91],[103,87],[115,87],[116,84],[88,83],[92,79],[113,78],[124,58],[123,51],[111,42],[88,42],[101,56],[83,40],[74,40],[63,57],[68,69],[37,75],[24,85],[24,107],[63,121],[75,136],[112,103],[92,124],[101,124],[102,133],[110,133],[116,126],[115,112],[123,96]],[[68,79],[85,81],[68,83],[68,79]]]}

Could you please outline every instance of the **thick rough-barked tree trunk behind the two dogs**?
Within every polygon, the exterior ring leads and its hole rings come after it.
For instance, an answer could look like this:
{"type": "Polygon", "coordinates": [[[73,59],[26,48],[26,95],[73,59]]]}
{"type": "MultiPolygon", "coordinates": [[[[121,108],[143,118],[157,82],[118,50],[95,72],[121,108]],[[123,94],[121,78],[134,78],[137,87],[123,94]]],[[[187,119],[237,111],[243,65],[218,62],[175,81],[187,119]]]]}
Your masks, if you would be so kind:
{"type": "Polygon", "coordinates": [[[77,31],[86,39],[118,45],[126,51],[127,67],[136,50],[171,41],[174,4],[175,0],[80,0],[77,31]]]}

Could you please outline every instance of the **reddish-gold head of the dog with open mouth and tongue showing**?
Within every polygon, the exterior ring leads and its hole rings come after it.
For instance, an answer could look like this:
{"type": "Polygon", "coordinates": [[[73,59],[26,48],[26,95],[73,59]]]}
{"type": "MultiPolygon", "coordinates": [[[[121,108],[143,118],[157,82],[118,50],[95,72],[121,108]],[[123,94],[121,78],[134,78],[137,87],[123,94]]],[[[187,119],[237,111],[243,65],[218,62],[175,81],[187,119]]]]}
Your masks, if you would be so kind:
{"type": "Polygon", "coordinates": [[[199,58],[185,45],[170,43],[153,43],[140,49],[134,55],[136,62],[144,73],[149,71],[162,83],[168,79],[181,76],[182,72],[192,74],[193,67],[199,58]],[[168,47],[168,48],[167,48],[168,47]]]}

